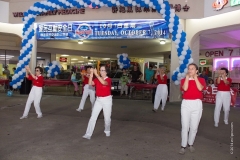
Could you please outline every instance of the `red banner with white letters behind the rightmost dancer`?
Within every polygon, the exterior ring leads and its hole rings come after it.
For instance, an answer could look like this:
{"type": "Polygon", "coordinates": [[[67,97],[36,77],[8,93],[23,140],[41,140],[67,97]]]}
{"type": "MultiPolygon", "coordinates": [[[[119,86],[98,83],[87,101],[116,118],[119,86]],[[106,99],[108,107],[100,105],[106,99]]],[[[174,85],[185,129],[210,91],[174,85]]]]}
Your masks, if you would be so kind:
{"type": "MultiPolygon", "coordinates": [[[[216,94],[217,94],[217,87],[210,87],[208,86],[206,90],[204,91],[203,101],[205,103],[216,103],[216,94]]],[[[231,88],[231,106],[235,107],[236,100],[237,100],[237,92],[238,90],[236,88],[231,88]]]]}

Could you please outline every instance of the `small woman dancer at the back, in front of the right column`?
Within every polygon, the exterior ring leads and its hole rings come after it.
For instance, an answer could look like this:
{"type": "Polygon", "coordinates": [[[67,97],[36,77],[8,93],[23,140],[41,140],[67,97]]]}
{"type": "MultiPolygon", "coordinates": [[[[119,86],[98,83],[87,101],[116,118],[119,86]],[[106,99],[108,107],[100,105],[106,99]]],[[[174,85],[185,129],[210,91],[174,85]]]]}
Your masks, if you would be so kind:
{"type": "Polygon", "coordinates": [[[155,74],[155,79],[157,79],[157,81],[158,81],[158,86],[157,86],[157,90],[155,93],[153,112],[156,112],[158,110],[161,100],[162,100],[161,110],[164,111],[167,97],[168,97],[167,75],[165,74],[164,67],[161,67],[157,70],[157,72],[155,74]]]}

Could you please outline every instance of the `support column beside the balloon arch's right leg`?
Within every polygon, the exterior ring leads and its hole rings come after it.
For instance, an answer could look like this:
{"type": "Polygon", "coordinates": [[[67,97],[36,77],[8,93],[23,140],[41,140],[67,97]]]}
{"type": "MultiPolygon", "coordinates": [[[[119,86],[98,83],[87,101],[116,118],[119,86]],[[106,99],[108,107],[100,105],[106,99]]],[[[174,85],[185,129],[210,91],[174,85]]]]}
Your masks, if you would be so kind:
{"type": "Polygon", "coordinates": [[[170,94],[169,94],[169,101],[170,102],[177,102],[181,101],[181,94],[180,94],[180,87],[179,85],[175,85],[174,82],[172,81],[172,74],[173,71],[179,67],[179,59],[177,56],[177,49],[172,42],[172,47],[171,47],[171,66],[170,66],[170,94]]]}

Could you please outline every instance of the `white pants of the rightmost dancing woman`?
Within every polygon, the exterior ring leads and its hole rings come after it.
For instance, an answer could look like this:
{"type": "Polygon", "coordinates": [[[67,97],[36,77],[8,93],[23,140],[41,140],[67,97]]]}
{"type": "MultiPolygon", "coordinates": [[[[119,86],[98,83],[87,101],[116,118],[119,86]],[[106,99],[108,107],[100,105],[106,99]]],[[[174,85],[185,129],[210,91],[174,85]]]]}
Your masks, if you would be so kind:
{"type": "Polygon", "coordinates": [[[228,116],[231,105],[231,94],[230,91],[218,91],[216,95],[216,105],[214,110],[214,122],[218,124],[220,112],[223,106],[224,111],[224,122],[228,123],[228,116]]]}

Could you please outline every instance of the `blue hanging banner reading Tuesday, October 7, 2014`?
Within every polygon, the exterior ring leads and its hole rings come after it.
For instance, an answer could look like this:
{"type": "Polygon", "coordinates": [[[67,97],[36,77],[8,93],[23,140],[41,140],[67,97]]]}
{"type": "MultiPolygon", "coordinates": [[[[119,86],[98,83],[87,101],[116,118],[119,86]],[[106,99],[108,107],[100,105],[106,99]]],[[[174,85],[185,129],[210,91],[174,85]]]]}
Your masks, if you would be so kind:
{"type": "Polygon", "coordinates": [[[165,20],[61,22],[37,25],[38,40],[169,38],[165,20]]]}

